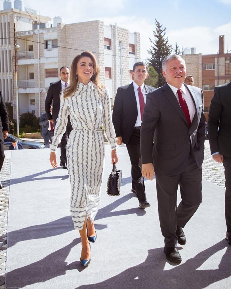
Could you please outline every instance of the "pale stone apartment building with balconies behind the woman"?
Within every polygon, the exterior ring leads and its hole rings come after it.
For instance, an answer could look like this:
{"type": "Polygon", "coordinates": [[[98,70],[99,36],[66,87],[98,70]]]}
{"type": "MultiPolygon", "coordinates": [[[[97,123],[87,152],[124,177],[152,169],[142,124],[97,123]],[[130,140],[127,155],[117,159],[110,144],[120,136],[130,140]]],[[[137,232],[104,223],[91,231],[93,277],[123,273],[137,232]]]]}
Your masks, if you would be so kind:
{"type": "Polygon", "coordinates": [[[96,56],[100,80],[109,88],[112,104],[121,83],[131,82],[133,64],[140,61],[138,32],[130,33],[98,20],[64,24],[60,16],[51,24],[50,17],[24,9],[22,0],[15,0],[14,8],[12,5],[12,1],[4,1],[4,10],[0,11],[0,38],[3,38],[0,40],[0,89],[10,118],[16,116],[14,23],[20,46],[17,52],[19,115],[29,111],[40,116],[50,83],[59,80],[59,68],[70,67],[73,58],[86,50],[96,56]]]}

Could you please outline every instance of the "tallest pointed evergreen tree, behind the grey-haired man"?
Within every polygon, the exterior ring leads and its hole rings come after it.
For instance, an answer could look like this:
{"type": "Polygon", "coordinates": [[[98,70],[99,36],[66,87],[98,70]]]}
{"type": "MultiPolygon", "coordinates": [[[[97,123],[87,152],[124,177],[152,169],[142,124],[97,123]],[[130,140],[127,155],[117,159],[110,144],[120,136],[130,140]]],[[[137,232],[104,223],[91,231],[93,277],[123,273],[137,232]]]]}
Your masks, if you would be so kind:
{"type": "Polygon", "coordinates": [[[149,64],[155,69],[158,73],[158,83],[157,87],[163,86],[165,84],[165,78],[163,77],[162,70],[162,61],[163,59],[171,54],[172,45],[169,44],[168,38],[165,36],[165,28],[162,28],[162,25],[156,21],[156,30],[153,30],[154,40],[149,38],[151,42],[151,48],[148,50],[150,58],[148,58],[149,64]]]}

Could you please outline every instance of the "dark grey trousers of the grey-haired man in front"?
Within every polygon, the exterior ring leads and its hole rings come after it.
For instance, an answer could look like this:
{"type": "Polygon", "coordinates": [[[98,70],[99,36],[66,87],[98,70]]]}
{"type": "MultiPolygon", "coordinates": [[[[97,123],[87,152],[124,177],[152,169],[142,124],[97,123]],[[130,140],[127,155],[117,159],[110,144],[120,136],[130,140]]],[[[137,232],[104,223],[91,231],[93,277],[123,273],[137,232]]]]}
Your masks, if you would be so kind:
{"type": "Polygon", "coordinates": [[[190,153],[185,170],[177,175],[156,173],[158,212],[165,246],[177,247],[176,227],[185,227],[202,201],[202,169],[190,153]],[[181,202],[176,207],[180,185],[181,202]]]}

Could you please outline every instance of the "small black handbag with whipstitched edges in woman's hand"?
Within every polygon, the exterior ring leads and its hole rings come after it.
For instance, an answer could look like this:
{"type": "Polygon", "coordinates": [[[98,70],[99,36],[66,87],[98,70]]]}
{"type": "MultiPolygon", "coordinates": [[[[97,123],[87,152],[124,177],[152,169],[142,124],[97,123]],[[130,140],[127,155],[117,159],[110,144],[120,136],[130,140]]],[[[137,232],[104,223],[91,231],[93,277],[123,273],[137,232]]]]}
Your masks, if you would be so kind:
{"type": "Polygon", "coordinates": [[[109,196],[119,196],[122,185],[122,170],[116,171],[116,165],[113,163],[112,172],[107,180],[107,194],[109,196]]]}

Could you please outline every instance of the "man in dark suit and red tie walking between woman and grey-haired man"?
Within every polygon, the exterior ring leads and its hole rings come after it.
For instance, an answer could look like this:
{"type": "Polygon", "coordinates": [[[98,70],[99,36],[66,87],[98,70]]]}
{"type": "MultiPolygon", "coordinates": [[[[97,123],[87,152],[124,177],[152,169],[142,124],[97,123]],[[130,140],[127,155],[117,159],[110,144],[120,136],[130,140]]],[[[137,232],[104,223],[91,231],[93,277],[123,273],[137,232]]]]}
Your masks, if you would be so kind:
{"type": "Polygon", "coordinates": [[[148,78],[148,66],[143,62],[137,62],[133,66],[131,84],[118,88],[112,121],[118,138],[117,144],[126,144],[131,160],[132,192],[137,195],[139,208],[150,207],[146,199],[144,177],[141,173],[141,154],[140,154],[140,128],[142,114],[146,102],[146,95],[154,87],[144,84],[148,78]]]}

